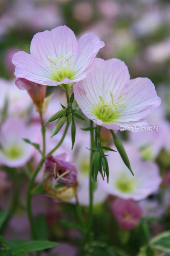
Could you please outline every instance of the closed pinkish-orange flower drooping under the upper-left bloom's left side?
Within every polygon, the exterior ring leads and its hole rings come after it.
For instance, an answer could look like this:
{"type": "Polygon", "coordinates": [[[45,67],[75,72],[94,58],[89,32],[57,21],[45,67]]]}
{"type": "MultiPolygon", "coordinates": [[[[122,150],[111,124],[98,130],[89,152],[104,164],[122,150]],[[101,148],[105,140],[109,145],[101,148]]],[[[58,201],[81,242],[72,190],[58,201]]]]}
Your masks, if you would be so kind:
{"type": "Polygon", "coordinates": [[[19,77],[15,79],[15,84],[20,90],[27,90],[35,106],[41,108],[46,94],[46,85],[36,84],[19,77]]]}

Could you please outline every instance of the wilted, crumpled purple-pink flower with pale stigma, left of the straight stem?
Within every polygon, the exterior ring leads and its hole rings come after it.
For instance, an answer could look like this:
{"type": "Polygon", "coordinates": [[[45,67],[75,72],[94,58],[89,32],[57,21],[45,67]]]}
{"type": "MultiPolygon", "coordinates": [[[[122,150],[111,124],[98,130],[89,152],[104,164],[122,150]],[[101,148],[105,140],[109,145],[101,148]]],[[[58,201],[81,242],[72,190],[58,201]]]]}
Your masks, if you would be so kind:
{"type": "MultiPolygon", "coordinates": [[[[61,183],[69,188],[77,181],[77,169],[71,162],[65,161],[66,154],[48,156],[45,160],[44,177],[55,179],[54,184],[61,183]]],[[[53,184],[53,186],[54,186],[53,184]]]]}

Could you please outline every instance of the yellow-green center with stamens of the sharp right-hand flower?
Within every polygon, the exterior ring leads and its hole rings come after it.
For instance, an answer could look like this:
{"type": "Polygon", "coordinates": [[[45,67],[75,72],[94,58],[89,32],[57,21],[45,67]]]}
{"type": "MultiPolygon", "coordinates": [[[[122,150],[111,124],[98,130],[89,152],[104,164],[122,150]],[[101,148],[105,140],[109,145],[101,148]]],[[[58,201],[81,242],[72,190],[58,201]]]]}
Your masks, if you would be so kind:
{"type": "Polygon", "coordinates": [[[120,97],[114,102],[113,93],[110,92],[111,104],[107,103],[106,101],[103,100],[101,96],[99,96],[100,102],[93,107],[93,114],[97,117],[97,119],[102,121],[102,123],[104,124],[112,124],[113,122],[118,121],[118,117],[120,113],[120,109],[118,108],[120,107],[126,108],[124,103],[129,101],[127,100],[127,101],[121,102],[122,99],[126,97],[126,95],[123,96],[123,94],[124,93],[122,93],[120,97]]]}

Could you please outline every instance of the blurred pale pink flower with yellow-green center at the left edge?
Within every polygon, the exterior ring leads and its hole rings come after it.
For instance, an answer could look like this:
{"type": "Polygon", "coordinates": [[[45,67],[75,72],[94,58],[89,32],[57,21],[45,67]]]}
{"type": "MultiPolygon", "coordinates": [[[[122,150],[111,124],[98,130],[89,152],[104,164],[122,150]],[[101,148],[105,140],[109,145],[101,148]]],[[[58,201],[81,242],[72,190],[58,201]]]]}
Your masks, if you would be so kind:
{"type": "Polygon", "coordinates": [[[35,148],[23,141],[29,139],[38,143],[39,129],[36,125],[26,126],[21,119],[11,117],[2,124],[0,131],[0,164],[21,167],[34,155],[35,148]]]}

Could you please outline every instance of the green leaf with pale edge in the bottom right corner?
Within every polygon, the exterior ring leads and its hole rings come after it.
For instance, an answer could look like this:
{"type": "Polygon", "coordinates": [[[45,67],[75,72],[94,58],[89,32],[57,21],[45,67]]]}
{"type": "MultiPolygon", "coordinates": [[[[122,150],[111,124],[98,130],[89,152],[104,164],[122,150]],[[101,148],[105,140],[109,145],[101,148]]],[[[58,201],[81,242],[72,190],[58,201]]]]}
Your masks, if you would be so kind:
{"type": "Polygon", "coordinates": [[[170,230],[155,236],[151,240],[150,246],[163,252],[170,252],[170,230]]]}

